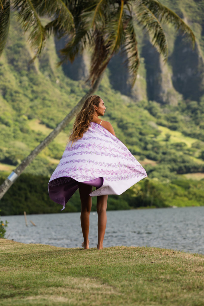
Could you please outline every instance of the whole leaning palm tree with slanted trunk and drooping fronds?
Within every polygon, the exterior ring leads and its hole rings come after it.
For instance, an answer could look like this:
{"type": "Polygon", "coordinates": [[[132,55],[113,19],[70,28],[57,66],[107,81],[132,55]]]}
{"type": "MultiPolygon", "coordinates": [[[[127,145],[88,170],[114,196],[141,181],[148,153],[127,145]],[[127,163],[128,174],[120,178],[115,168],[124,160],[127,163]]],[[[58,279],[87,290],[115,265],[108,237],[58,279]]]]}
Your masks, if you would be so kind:
{"type": "MultiPolygon", "coordinates": [[[[89,79],[91,89],[72,109],[68,116],[28,155],[26,159],[14,171],[19,176],[28,164],[46,147],[70,122],[70,117],[83,105],[87,96],[91,95],[100,83],[102,73],[106,69],[113,55],[122,50],[127,55],[128,71],[132,75],[132,84],[135,83],[139,66],[137,40],[133,24],[133,12],[138,24],[152,35],[152,43],[167,59],[168,48],[165,32],[161,26],[170,23],[177,29],[186,33],[195,43],[195,36],[184,21],[172,10],[163,6],[157,0],[141,1],[115,1],[96,0],[89,2],[78,1],[36,1],[13,0],[13,9],[25,32],[29,31],[31,45],[36,48],[33,59],[41,53],[45,40],[51,33],[58,37],[67,37],[68,42],[61,50],[62,60],[74,58],[83,52],[87,45],[92,48],[91,67],[89,79]],[[43,26],[40,17],[50,17],[48,23],[43,26]]],[[[0,53],[6,42],[9,31],[10,1],[2,0],[0,6],[1,31],[0,53]]],[[[13,180],[7,178],[0,188],[0,199],[13,184],[13,180]]]]}

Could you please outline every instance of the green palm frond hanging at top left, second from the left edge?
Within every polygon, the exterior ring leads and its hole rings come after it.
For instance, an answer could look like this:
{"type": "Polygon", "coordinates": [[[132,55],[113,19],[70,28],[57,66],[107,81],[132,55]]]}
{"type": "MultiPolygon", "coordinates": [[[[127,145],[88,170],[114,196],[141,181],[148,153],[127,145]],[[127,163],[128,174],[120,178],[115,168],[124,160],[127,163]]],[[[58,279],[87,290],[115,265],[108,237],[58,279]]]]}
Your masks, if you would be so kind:
{"type": "MultiPolygon", "coordinates": [[[[17,11],[17,18],[25,32],[29,32],[29,42],[35,49],[35,57],[44,47],[46,40],[45,28],[31,0],[13,0],[13,7],[17,11]]],[[[35,59],[35,57],[33,59],[35,59]]]]}

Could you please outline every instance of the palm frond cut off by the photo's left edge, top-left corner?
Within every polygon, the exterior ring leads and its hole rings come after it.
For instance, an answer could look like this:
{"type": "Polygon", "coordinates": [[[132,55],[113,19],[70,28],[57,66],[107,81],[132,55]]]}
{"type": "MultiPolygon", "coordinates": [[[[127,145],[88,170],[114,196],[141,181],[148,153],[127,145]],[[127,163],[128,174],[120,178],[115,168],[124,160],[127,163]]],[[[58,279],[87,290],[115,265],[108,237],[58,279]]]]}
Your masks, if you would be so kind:
{"type": "Polygon", "coordinates": [[[0,0],[0,55],[6,44],[10,23],[10,1],[0,0]]]}

